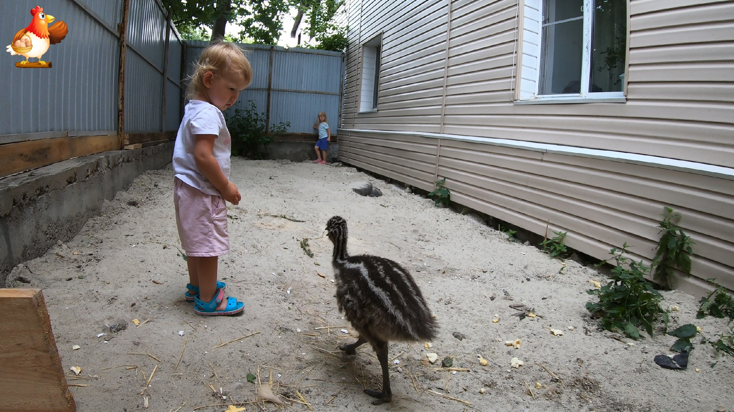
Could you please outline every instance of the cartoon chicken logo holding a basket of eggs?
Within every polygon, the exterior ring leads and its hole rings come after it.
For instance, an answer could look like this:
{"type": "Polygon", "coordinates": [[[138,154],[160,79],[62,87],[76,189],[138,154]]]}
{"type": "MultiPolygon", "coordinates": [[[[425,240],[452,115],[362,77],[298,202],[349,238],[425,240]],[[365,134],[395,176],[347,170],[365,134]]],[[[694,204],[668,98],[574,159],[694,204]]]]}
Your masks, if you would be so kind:
{"type": "Polygon", "coordinates": [[[53,26],[54,16],[47,15],[43,12],[43,7],[36,6],[31,9],[31,23],[25,29],[21,29],[15,33],[12,38],[12,44],[7,46],[7,51],[11,55],[20,54],[25,56],[23,62],[15,63],[15,67],[51,67],[51,62],[44,62],[41,56],[48,51],[48,47],[52,44],[61,43],[66,34],[69,32],[66,23],[58,21],[53,26]],[[30,57],[35,57],[38,62],[29,62],[30,57]]]}

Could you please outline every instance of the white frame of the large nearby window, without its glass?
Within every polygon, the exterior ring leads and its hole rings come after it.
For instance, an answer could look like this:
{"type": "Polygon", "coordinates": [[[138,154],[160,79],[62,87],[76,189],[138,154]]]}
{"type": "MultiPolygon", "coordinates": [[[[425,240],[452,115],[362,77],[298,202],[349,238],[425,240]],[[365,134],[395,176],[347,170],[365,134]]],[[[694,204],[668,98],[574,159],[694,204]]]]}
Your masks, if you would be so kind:
{"type": "Polygon", "coordinates": [[[584,48],[581,56],[581,92],[540,95],[540,57],[542,55],[542,3],[543,0],[523,0],[520,9],[520,51],[517,62],[517,87],[515,104],[539,103],[625,103],[627,101],[627,76],[630,55],[630,2],[627,1],[627,58],[622,92],[589,92],[591,75],[592,30],[595,0],[584,0],[584,48]],[[592,12],[586,12],[592,10],[592,12]]]}

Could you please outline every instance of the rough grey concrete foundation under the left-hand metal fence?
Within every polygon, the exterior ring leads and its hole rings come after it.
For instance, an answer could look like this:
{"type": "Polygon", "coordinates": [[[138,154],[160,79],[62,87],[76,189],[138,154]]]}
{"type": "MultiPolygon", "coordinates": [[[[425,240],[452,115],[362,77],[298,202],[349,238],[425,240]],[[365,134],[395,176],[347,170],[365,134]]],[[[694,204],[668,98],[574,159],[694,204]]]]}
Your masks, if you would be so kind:
{"type": "MultiPolygon", "coordinates": [[[[313,149],[312,149],[313,150],[313,149]]],[[[170,163],[173,142],[73,158],[0,180],[0,287],[10,269],[76,236],[104,199],[170,163]]]]}

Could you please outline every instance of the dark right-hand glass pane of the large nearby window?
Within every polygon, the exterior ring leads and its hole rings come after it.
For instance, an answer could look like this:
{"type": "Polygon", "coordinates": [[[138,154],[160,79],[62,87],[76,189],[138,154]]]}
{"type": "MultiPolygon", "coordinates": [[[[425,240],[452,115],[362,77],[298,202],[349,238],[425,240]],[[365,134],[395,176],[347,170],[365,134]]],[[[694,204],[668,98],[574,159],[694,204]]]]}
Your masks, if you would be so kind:
{"type": "Polygon", "coordinates": [[[627,54],[626,0],[595,0],[589,92],[622,92],[627,54]]]}

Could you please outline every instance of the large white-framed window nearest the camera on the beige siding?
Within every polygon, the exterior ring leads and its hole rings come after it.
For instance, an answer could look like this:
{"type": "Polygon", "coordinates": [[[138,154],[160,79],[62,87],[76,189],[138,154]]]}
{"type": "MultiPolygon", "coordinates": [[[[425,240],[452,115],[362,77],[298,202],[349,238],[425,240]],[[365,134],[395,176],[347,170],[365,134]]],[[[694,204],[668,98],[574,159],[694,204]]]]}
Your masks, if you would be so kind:
{"type": "Polygon", "coordinates": [[[624,100],[627,0],[524,0],[522,100],[624,100]]]}

